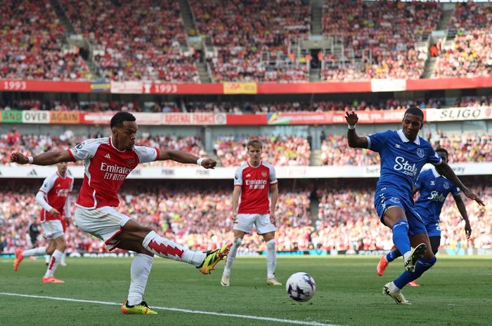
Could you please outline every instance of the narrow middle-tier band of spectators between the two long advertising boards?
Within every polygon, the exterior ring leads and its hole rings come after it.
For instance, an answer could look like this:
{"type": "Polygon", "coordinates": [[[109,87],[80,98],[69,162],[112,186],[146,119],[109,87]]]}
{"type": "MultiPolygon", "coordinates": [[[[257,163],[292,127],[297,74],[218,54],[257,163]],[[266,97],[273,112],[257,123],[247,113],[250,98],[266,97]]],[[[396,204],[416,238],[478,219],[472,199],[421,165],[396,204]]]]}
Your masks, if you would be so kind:
{"type": "MultiPolygon", "coordinates": [[[[63,151],[87,138],[105,137],[98,132],[89,137],[79,137],[72,130],[65,130],[62,135],[22,135],[19,130],[12,129],[0,134],[0,165],[10,165],[10,154],[19,151],[27,156],[34,156],[45,151],[63,151]]],[[[441,130],[436,133],[428,131],[422,135],[434,148],[443,147],[450,154],[454,163],[492,162],[492,135],[457,134],[444,135],[441,130]]],[[[321,135],[322,165],[377,165],[380,157],[367,149],[352,149],[347,146],[345,135],[321,135]]],[[[263,135],[263,136],[219,136],[214,141],[214,154],[218,157],[219,166],[236,167],[247,161],[246,144],[249,140],[259,139],[264,143],[261,159],[276,166],[309,165],[311,145],[308,137],[263,135]]],[[[200,135],[150,135],[143,132],[138,135],[138,145],[164,148],[169,150],[188,151],[191,154],[209,156],[200,135]]],[[[74,163],[82,165],[82,161],[74,163]]],[[[193,166],[174,161],[157,161],[146,163],[150,166],[193,166]]]]}

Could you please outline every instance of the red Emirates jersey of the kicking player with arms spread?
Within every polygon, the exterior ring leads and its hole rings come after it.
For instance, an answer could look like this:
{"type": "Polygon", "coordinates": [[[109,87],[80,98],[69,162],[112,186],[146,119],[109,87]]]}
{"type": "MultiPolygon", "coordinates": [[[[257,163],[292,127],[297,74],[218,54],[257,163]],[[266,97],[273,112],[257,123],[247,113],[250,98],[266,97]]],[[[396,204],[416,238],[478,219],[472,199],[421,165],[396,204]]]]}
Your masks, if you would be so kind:
{"type": "Polygon", "coordinates": [[[86,140],[68,152],[74,161],[84,161],[84,182],[76,205],[94,209],[119,205],[118,190],[138,163],[155,161],[159,149],[134,146],[120,151],[111,137],[86,140]]]}

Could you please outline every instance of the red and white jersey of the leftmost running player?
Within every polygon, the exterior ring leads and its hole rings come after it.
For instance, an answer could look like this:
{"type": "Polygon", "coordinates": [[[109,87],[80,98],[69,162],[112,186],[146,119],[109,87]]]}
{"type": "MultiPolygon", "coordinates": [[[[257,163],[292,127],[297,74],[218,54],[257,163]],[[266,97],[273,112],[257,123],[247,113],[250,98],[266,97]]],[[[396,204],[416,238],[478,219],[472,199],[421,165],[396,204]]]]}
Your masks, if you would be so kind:
{"type": "Polygon", "coordinates": [[[55,217],[50,212],[46,212],[44,208],[41,208],[41,222],[53,221],[55,219],[61,220],[65,215],[65,203],[67,196],[72,191],[74,186],[74,179],[65,175],[60,177],[58,172],[53,173],[46,179],[44,179],[43,185],[39,188],[39,191],[44,193],[44,200],[52,208],[55,208],[60,212],[60,216],[55,217]]]}

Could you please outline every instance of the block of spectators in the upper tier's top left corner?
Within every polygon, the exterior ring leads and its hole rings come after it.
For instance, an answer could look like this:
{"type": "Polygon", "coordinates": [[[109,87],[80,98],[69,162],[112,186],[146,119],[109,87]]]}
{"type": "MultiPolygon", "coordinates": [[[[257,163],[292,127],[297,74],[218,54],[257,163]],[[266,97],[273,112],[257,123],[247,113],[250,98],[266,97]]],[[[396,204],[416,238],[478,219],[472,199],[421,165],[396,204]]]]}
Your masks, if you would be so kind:
{"type": "Polygon", "coordinates": [[[65,27],[51,1],[2,1],[0,20],[1,79],[91,79],[79,49],[64,46],[65,27]]]}

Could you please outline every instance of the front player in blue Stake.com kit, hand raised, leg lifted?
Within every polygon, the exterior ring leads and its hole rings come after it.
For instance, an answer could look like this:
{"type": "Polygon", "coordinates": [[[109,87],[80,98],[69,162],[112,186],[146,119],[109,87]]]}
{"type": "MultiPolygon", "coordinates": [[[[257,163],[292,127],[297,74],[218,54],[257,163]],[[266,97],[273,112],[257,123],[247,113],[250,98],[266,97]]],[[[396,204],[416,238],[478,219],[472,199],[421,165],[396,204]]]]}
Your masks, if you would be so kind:
{"type": "Polygon", "coordinates": [[[427,236],[425,223],[413,203],[413,185],[425,163],[436,167],[440,175],[458,186],[468,198],[484,202],[467,189],[449,165],[436,154],[431,144],[418,136],[424,125],[424,113],[417,107],[407,109],[400,130],[359,137],[356,134],[358,116],[347,112],[349,146],[377,151],[381,158],[380,179],[375,191],[375,208],[382,224],[393,231],[393,243],[403,254],[405,271],[393,282],[383,287],[383,294],[392,297],[397,304],[410,304],[401,289],[436,263],[427,236]]]}

